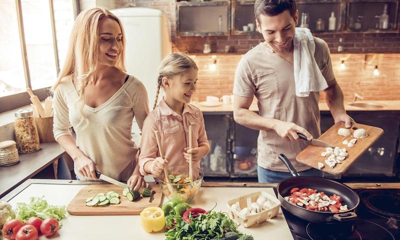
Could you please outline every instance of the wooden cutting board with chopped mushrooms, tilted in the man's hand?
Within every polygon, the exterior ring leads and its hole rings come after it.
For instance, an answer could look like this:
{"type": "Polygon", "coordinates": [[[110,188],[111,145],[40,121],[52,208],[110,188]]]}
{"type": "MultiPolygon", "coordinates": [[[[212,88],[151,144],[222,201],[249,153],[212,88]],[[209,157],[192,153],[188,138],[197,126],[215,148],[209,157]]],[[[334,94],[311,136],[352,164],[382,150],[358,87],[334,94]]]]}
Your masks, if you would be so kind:
{"type": "Polygon", "coordinates": [[[344,128],[344,122],[337,122],[317,138],[336,147],[309,145],[296,160],[333,175],[343,174],[382,134],[379,127],[353,123],[344,128]]]}

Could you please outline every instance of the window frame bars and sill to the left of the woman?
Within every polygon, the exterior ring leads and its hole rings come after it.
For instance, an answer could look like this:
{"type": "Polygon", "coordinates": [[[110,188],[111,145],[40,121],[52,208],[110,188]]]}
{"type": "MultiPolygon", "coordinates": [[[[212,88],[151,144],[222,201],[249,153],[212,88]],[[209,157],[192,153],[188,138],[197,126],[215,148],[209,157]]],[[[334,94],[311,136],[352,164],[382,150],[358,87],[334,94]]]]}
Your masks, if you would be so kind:
{"type": "MultiPolygon", "coordinates": [[[[52,39],[53,39],[53,50],[54,50],[54,60],[55,60],[55,67],[57,71],[57,75],[59,73],[59,59],[58,59],[58,48],[57,48],[57,38],[55,34],[55,21],[54,21],[54,9],[53,9],[53,0],[48,0],[49,8],[50,8],[50,19],[51,19],[51,31],[52,31],[52,39]]],[[[31,87],[30,82],[30,75],[29,75],[29,64],[27,60],[26,54],[26,43],[25,43],[25,35],[23,30],[23,19],[22,19],[22,8],[21,8],[21,0],[15,0],[16,6],[16,14],[17,14],[17,21],[18,21],[18,32],[19,32],[19,42],[21,48],[21,55],[22,55],[22,65],[25,74],[25,83],[26,87],[31,87]]],[[[77,14],[80,12],[79,9],[79,0],[72,0],[72,11],[73,11],[73,18],[75,19],[77,14]]],[[[39,88],[32,90],[35,95],[39,98],[40,101],[44,100],[49,93],[49,88],[51,86],[39,88]]],[[[0,96],[0,113],[9,111],[21,106],[29,105],[30,97],[26,93],[26,91],[7,95],[7,96],[0,96]]]]}

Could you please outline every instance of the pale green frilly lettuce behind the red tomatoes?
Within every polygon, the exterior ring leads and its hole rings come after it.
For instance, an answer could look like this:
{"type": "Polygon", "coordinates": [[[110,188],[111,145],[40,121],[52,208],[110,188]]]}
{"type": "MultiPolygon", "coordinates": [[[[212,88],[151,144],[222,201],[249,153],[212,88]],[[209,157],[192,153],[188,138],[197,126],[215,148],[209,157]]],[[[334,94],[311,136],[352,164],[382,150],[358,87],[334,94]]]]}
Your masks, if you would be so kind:
{"type": "Polygon", "coordinates": [[[43,220],[52,217],[57,221],[65,217],[66,208],[64,205],[49,205],[43,197],[32,196],[29,203],[16,203],[16,218],[25,222],[31,216],[37,216],[43,220]]]}

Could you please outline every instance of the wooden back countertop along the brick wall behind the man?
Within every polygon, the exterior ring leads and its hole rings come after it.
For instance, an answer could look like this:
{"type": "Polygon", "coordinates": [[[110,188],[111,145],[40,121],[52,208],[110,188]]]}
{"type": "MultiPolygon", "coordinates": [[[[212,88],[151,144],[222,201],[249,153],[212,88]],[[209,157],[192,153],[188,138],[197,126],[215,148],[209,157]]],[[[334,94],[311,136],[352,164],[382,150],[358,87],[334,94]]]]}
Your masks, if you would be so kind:
{"type": "MultiPolygon", "coordinates": [[[[347,111],[398,111],[400,110],[400,100],[370,100],[370,101],[356,101],[359,103],[374,103],[378,105],[382,105],[383,107],[377,107],[377,108],[365,108],[365,107],[357,107],[357,106],[351,106],[349,103],[352,102],[344,102],[344,108],[347,111]]],[[[195,106],[197,106],[202,112],[232,112],[233,111],[233,105],[232,104],[222,104],[220,106],[202,106],[198,104],[198,102],[193,103],[195,106]]],[[[320,111],[328,111],[329,108],[326,104],[325,101],[319,102],[319,110],[320,111]]],[[[258,106],[256,100],[254,100],[249,109],[251,111],[258,111],[258,106]]]]}

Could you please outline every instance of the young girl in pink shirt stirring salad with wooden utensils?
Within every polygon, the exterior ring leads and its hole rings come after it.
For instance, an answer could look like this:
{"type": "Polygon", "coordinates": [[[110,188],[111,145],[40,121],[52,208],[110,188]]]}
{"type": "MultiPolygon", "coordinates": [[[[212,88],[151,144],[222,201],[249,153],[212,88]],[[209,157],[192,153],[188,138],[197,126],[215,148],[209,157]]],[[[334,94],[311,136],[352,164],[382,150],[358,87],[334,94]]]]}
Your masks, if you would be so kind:
{"type": "Polygon", "coordinates": [[[188,164],[189,153],[193,167],[200,167],[200,159],[208,153],[209,145],[201,111],[188,104],[196,82],[197,66],[187,55],[174,52],[162,61],[153,110],[144,120],[140,140],[141,174],[159,176],[164,166],[188,164]],[[164,97],[156,105],[160,87],[164,89],[164,97]],[[192,126],[191,149],[188,149],[189,125],[192,126]],[[159,156],[155,130],[160,133],[164,159],[159,156]]]}

